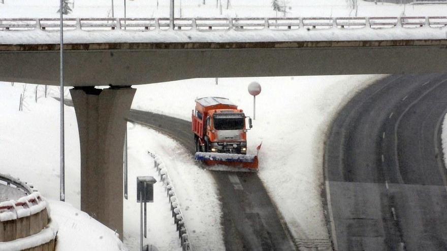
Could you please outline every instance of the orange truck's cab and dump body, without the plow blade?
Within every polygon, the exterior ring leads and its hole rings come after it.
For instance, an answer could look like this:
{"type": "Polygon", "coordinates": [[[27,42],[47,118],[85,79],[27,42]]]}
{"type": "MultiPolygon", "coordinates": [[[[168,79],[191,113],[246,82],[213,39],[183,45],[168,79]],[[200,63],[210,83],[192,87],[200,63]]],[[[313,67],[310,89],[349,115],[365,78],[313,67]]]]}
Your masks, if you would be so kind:
{"type": "MultiPolygon", "coordinates": [[[[247,153],[247,128],[244,112],[227,98],[196,99],[192,129],[196,152],[247,153]]],[[[249,117],[248,117],[249,118],[249,117]]],[[[250,129],[251,118],[248,119],[250,129]]]]}

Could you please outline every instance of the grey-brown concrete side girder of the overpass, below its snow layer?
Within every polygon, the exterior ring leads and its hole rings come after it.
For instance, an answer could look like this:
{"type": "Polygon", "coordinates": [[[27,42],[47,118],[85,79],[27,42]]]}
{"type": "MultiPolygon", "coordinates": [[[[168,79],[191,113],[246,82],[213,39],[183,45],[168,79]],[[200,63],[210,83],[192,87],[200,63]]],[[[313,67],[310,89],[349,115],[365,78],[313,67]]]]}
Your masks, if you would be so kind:
{"type": "MultiPolygon", "coordinates": [[[[445,73],[445,40],[65,45],[66,86],[191,78],[445,73]]],[[[58,45],[2,45],[0,81],[59,84],[58,45]]]]}

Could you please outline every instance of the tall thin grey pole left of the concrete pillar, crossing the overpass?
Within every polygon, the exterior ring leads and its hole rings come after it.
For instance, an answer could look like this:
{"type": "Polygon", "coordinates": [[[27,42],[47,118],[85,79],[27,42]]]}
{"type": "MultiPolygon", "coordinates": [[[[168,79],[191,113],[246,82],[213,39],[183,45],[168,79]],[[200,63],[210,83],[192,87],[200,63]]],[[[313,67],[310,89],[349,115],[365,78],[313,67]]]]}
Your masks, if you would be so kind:
{"type": "Polygon", "coordinates": [[[60,176],[59,176],[59,189],[60,189],[60,200],[65,201],[65,147],[64,147],[64,131],[63,131],[63,10],[62,3],[60,0],[60,176]]]}

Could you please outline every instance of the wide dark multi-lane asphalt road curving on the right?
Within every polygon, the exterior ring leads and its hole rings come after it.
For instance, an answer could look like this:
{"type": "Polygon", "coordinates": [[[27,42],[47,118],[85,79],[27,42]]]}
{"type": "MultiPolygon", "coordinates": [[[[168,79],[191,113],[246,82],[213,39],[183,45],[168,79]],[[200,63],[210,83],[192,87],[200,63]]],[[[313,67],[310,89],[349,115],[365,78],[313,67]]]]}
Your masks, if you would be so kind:
{"type": "Polygon", "coordinates": [[[447,250],[447,75],[390,76],[341,110],[325,148],[337,250],[447,250]]]}

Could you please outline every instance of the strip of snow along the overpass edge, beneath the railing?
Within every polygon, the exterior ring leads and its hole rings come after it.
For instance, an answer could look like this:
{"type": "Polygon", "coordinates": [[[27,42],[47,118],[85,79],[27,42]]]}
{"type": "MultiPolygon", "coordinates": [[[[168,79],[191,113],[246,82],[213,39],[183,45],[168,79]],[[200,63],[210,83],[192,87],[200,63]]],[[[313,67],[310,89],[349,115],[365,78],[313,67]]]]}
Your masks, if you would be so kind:
{"type": "MultiPolygon", "coordinates": [[[[387,41],[442,40],[447,27],[439,28],[354,28],[354,29],[296,29],[296,30],[68,30],[64,43],[231,43],[231,42],[307,42],[307,41],[387,41]]],[[[0,44],[58,44],[58,32],[43,30],[0,31],[0,44]]]]}

